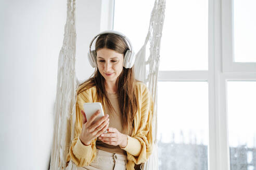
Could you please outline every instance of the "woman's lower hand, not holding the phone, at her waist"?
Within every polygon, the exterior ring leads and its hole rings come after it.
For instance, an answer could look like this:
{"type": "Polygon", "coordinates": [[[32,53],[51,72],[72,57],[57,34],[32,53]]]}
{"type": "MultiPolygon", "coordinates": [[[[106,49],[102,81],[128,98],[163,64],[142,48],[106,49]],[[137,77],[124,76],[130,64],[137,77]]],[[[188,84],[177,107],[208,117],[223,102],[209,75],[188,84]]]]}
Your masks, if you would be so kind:
{"type": "Polygon", "coordinates": [[[109,127],[108,133],[101,134],[98,138],[108,145],[120,145],[124,148],[127,145],[128,137],[125,134],[120,133],[116,128],[109,127]]]}

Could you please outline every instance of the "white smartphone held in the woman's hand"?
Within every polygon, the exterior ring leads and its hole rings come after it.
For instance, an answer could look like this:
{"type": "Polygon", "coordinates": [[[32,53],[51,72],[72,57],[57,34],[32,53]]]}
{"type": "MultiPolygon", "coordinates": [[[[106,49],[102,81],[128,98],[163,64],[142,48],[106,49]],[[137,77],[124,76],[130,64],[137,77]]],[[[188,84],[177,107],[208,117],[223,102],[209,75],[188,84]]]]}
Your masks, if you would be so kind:
{"type": "Polygon", "coordinates": [[[84,103],[84,112],[85,112],[86,120],[88,121],[93,116],[93,114],[95,114],[95,112],[97,110],[100,110],[100,114],[93,121],[93,123],[96,122],[97,120],[99,120],[101,117],[104,116],[103,107],[102,107],[100,102],[84,103]]]}

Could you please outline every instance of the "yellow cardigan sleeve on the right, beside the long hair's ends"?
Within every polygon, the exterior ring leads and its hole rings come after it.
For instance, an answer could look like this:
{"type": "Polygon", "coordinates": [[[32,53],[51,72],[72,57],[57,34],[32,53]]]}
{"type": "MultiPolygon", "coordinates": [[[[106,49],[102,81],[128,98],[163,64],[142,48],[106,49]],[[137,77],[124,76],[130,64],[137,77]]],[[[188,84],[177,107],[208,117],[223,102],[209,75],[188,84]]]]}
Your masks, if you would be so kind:
{"type": "Polygon", "coordinates": [[[152,114],[153,114],[153,102],[152,97],[145,86],[140,83],[138,97],[141,105],[138,111],[140,118],[138,118],[138,127],[135,123],[135,134],[128,137],[127,146],[124,149],[127,152],[127,159],[133,161],[135,164],[145,163],[151,152],[153,146],[152,137],[152,114]],[[137,130],[136,130],[137,129],[137,130]],[[140,144],[140,146],[139,146],[140,144]],[[138,149],[140,148],[140,149],[138,149]]]}

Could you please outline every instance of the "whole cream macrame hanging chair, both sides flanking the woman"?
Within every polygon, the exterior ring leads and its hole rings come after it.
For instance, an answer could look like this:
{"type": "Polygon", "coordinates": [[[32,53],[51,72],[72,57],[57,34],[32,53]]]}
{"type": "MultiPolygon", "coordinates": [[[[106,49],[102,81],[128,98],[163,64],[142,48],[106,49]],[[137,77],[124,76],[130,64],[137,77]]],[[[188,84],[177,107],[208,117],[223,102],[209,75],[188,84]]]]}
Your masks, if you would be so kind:
{"type": "MultiPolygon", "coordinates": [[[[141,167],[147,170],[158,169],[157,82],[164,11],[165,0],[156,0],[151,11],[150,24],[145,43],[136,54],[134,64],[135,78],[147,84],[154,102],[152,132],[154,137],[154,149],[149,160],[141,167]],[[146,61],[146,45],[148,41],[150,41],[150,55],[146,61]]],[[[68,150],[74,138],[76,89],[79,85],[79,81],[75,76],[75,43],[75,0],[68,0],[65,34],[58,60],[57,93],[54,107],[54,136],[50,158],[51,170],[77,169],[72,160],[70,160],[66,167],[68,150]]]]}

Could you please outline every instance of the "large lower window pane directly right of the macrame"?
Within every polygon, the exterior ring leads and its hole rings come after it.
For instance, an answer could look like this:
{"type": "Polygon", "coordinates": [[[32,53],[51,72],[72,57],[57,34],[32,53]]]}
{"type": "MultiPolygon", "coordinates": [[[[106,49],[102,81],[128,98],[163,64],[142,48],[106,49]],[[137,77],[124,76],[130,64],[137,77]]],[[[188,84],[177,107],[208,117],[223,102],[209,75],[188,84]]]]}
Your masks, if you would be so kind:
{"type": "Polygon", "coordinates": [[[159,169],[208,169],[208,82],[158,82],[159,169]]]}

